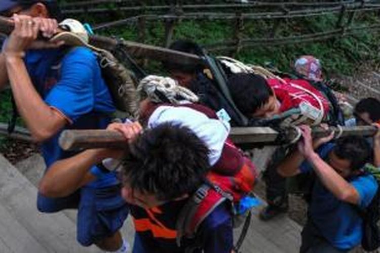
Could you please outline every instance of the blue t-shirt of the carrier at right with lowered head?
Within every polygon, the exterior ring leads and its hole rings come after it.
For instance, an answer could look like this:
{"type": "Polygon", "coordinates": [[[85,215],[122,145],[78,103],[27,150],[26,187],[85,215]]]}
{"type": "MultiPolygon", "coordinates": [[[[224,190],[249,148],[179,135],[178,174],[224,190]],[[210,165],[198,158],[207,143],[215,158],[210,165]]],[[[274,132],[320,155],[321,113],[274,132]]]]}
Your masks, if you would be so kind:
{"type": "MultiPolygon", "coordinates": [[[[334,144],[328,143],[319,148],[318,154],[326,160],[334,144]]],[[[300,166],[302,173],[313,170],[307,162],[300,166]]],[[[372,175],[350,178],[349,183],[358,191],[359,207],[365,208],[377,191],[377,183],[372,175]]],[[[337,199],[317,178],[309,206],[309,216],[322,236],[339,249],[351,249],[362,239],[362,219],[358,210],[348,203],[337,199]]]]}

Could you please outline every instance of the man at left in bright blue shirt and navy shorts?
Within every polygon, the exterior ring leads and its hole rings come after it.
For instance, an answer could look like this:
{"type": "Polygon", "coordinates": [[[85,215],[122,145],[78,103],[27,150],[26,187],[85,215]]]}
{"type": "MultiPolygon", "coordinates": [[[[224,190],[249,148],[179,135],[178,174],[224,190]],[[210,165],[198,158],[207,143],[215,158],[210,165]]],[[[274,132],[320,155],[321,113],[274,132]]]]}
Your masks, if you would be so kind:
{"type": "MultiPolygon", "coordinates": [[[[32,137],[42,143],[47,167],[74,155],[58,146],[65,129],[102,129],[115,111],[96,56],[86,48],[40,43],[41,33],[57,31],[56,1],[1,1],[0,12],[15,28],[0,54],[0,89],[9,81],[19,114],[32,137]]],[[[73,182],[74,183],[74,182],[73,182]]],[[[123,248],[119,228],[128,215],[115,173],[97,166],[74,193],[40,186],[37,208],[44,213],[78,208],[78,241],[107,251],[123,248]]],[[[125,248],[125,247],[124,247],[125,248]]],[[[124,251],[120,251],[124,252],[124,251]]]]}

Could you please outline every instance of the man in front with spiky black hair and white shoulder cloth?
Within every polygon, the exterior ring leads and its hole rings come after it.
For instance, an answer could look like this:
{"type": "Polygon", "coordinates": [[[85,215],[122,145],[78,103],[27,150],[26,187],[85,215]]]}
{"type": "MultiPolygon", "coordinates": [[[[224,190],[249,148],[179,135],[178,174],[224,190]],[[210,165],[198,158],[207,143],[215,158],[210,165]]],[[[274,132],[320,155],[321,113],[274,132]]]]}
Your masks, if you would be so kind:
{"type": "Polygon", "coordinates": [[[171,106],[158,107],[147,127],[142,132],[138,122],[110,124],[108,130],[125,136],[124,150],[91,149],[58,161],[41,187],[73,191],[85,182],[92,164],[107,165],[106,158],[116,158],[122,161],[116,163],[123,175],[122,195],[134,218],[133,252],[175,253],[194,248],[189,252],[230,253],[233,233],[228,201],[207,214],[194,238],[179,235],[176,227],[189,198],[205,183],[211,167],[220,163],[229,128],[194,109],[171,106]]]}

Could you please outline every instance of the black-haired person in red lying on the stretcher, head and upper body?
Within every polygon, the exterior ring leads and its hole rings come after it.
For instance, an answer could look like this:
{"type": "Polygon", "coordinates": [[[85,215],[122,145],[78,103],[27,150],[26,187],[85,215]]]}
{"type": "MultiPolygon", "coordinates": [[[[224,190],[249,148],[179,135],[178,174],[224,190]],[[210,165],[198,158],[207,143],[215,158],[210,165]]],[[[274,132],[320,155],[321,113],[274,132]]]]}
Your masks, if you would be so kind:
{"type": "Polygon", "coordinates": [[[304,116],[318,124],[329,110],[329,102],[322,93],[302,79],[266,80],[253,73],[237,73],[231,75],[228,86],[236,106],[249,118],[271,118],[299,108],[304,116]]]}

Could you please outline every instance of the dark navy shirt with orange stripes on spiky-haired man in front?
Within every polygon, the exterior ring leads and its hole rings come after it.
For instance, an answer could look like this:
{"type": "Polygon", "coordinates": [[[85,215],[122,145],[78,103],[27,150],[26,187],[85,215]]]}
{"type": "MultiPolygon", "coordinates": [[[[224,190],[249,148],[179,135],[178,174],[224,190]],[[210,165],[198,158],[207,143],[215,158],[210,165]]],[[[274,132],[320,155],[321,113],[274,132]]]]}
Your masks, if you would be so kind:
{"type": "Polygon", "coordinates": [[[230,206],[220,204],[201,223],[197,240],[182,238],[181,247],[176,243],[175,225],[187,199],[171,201],[149,210],[131,205],[135,223],[133,253],[183,253],[188,247],[201,245],[195,252],[230,253],[233,248],[232,217],[230,206]]]}

